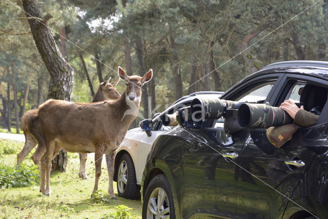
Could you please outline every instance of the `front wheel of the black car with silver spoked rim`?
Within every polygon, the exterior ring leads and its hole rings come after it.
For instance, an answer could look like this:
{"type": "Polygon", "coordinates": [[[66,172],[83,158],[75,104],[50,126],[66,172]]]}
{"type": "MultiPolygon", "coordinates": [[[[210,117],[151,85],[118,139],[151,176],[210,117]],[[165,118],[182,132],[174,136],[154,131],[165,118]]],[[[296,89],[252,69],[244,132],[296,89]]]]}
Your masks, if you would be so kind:
{"type": "Polygon", "coordinates": [[[170,219],[175,218],[172,190],[168,179],[161,174],[154,177],[147,187],[142,204],[142,219],[162,218],[168,215],[170,219]],[[159,201],[159,197],[163,197],[162,201],[159,201]]]}

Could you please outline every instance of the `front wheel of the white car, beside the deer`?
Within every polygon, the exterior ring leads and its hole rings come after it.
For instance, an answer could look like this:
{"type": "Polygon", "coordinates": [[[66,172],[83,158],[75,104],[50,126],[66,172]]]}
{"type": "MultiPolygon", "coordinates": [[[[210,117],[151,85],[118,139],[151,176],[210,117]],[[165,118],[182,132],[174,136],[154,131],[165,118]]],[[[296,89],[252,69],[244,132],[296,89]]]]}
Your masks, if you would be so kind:
{"type": "Polygon", "coordinates": [[[116,173],[118,196],[126,199],[140,198],[140,186],[137,185],[133,160],[129,154],[122,155],[116,173]]]}

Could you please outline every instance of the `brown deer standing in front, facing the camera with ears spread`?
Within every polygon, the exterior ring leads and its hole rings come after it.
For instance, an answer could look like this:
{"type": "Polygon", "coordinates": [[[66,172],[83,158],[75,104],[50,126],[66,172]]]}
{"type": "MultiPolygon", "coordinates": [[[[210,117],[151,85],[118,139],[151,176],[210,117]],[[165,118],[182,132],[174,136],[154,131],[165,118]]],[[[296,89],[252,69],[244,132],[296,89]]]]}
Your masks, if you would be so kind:
{"type": "Polygon", "coordinates": [[[68,152],[95,153],[96,172],[92,194],[98,190],[101,160],[106,154],[108,193],[115,199],[115,150],[136,117],[140,105],[141,86],[152,79],[153,70],[149,70],[144,77],[127,76],[118,67],[118,75],[126,81],[127,88],[116,101],[85,104],[48,100],[39,107],[38,119],[47,149],[40,160],[40,191],[44,194],[51,194],[51,160],[63,147],[68,152]]]}

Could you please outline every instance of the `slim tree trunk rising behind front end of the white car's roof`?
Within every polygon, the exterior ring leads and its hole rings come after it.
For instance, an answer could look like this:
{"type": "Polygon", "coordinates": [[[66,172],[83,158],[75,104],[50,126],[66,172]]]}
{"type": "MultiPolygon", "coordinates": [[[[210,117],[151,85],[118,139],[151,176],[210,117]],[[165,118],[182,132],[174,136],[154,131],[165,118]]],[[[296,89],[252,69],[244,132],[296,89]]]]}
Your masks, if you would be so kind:
{"type": "Polygon", "coordinates": [[[172,67],[172,74],[175,83],[175,100],[178,100],[182,96],[182,80],[181,74],[179,72],[180,66],[178,63],[178,56],[175,54],[176,52],[176,43],[172,35],[170,35],[170,43],[171,43],[171,67],[172,67]]]}

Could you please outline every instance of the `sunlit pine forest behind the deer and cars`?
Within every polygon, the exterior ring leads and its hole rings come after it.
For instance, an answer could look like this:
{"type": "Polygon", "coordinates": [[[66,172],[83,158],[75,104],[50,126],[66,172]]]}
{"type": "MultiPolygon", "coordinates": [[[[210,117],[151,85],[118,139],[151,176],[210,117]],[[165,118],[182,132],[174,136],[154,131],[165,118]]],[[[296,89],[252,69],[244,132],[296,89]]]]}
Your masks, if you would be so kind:
{"type": "MultiPolygon", "coordinates": [[[[117,79],[118,66],[128,75],[153,69],[131,128],[183,95],[225,91],[267,64],[327,60],[328,0],[47,0],[39,5],[74,69],[71,101],[91,102],[99,82],[117,79]]],[[[16,132],[24,113],[48,99],[51,84],[19,8],[22,1],[0,0],[0,126],[16,132]]],[[[122,93],[125,83],[116,87],[122,93]]]]}

